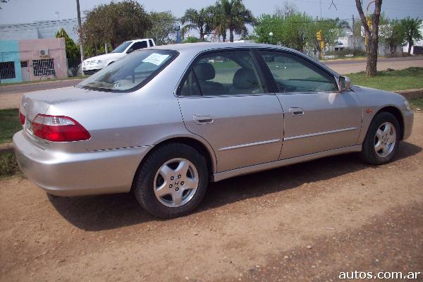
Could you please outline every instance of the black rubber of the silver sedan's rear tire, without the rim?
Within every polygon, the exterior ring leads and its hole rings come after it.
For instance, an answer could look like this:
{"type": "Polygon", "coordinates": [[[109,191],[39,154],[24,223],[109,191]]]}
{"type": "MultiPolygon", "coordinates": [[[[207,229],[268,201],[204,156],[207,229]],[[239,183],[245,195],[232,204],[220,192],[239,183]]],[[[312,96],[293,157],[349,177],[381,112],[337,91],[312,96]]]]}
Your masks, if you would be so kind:
{"type": "Polygon", "coordinates": [[[162,219],[170,219],[188,214],[200,204],[207,190],[208,175],[206,161],[197,150],[180,143],[162,145],[154,149],[154,152],[149,154],[140,167],[135,176],[133,192],[137,201],[147,212],[162,219]],[[197,190],[192,198],[182,206],[166,207],[159,202],[154,193],[154,178],[166,161],[178,158],[186,159],[195,166],[199,178],[197,190]]]}

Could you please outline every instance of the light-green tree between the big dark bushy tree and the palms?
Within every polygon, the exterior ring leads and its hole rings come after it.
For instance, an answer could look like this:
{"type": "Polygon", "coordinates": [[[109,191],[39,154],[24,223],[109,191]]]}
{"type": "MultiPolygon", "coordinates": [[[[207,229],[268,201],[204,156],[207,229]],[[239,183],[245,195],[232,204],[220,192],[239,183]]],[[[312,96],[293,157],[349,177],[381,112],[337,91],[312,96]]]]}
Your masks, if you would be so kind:
{"type": "Polygon", "coordinates": [[[152,12],[150,17],[153,23],[152,28],[147,32],[147,37],[152,37],[157,45],[167,44],[172,42],[173,35],[176,34],[178,25],[176,18],[171,11],[166,12],[152,12]]]}

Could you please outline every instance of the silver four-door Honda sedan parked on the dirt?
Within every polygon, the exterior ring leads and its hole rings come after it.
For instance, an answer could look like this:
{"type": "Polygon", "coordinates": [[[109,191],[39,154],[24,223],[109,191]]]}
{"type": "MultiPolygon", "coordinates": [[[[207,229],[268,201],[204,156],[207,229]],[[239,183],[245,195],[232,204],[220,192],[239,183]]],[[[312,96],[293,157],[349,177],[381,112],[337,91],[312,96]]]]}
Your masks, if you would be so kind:
{"type": "Polygon", "coordinates": [[[134,51],[76,87],[25,94],[20,121],[18,163],[48,193],[133,192],[170,218],[195,209],[209,181],[350,152],[385,164],[413,113],[292,49],[197,43],[134,51]]]}

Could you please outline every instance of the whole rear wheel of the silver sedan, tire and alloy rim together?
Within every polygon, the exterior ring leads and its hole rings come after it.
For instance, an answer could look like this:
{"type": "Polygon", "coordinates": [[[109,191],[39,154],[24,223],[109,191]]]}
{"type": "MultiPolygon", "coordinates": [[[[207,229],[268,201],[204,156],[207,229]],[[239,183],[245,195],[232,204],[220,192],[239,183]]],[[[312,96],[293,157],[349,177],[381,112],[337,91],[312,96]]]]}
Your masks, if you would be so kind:
{"type": "Polygon", "coordinates": [[[188,214],[200,204],[208,176],[206,161],[197,150],[171,143],[145,159],[135,176],[133,192],[147,212],[170,219],[188,214]]]}

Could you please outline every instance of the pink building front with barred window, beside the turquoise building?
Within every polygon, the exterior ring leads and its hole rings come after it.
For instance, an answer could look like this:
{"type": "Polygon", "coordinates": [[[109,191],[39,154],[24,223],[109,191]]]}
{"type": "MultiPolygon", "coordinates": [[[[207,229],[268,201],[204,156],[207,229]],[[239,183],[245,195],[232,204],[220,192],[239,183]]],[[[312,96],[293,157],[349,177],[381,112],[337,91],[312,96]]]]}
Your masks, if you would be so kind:
{"type": "Polygon", "coordinates": [[[23,81],[68,77],[64,38],[20,40],[19,53],[23,81]]]}

